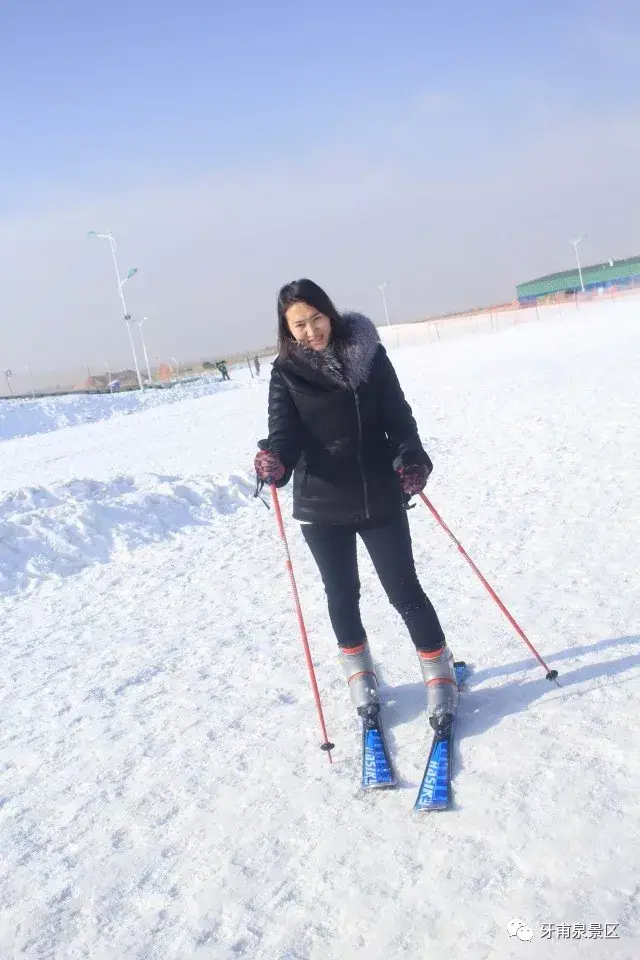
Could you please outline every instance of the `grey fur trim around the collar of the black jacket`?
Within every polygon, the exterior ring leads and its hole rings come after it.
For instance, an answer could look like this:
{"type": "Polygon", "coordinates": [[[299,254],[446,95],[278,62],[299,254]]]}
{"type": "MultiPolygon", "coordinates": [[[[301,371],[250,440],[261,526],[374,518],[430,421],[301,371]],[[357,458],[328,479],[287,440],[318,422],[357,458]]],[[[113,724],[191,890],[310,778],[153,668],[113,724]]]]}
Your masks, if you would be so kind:
{"type": "Polygon", "coordinates": [[[369,378],[380,336],[371,320],[361,313],[343,313],[342,323],[346,329],[344,339],[335,340],[326,350],[296,344],[290,362],[298,369],[304,365],[336,386],[357,390],[369,378]]]}

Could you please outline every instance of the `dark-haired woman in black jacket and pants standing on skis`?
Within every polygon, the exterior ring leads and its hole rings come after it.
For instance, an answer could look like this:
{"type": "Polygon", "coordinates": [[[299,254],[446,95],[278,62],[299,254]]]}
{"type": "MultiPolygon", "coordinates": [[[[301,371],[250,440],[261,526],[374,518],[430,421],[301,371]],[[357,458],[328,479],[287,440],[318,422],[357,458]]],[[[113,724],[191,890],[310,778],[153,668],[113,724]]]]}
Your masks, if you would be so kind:
{"type": "Polygon", "coordinates": [[[378,684],[360,619],[357,544],[415,644],[431,723],[455,712],[453,657],[416,576],[407,504],[432,464],[373,323],[340,314],[317,284],[278,294],[279,353],[269,387],[269,438],[255,458],[259,481],[293,474],[293,515],[318,565],[351,699],[373,718],[378,684]]]}

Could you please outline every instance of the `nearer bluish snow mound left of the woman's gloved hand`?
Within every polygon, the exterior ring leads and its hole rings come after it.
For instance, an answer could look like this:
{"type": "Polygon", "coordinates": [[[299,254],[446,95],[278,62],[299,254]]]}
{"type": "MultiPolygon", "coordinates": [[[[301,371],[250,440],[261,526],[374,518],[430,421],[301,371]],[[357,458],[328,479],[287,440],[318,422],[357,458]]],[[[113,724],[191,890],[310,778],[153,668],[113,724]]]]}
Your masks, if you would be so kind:
{"type": "Polygon", "coordinates": [[[210,524],[253,499],[243,477],[150,474],[75,479],[0,497],[0,594],[106,563],[118,553],[210,524]]]}

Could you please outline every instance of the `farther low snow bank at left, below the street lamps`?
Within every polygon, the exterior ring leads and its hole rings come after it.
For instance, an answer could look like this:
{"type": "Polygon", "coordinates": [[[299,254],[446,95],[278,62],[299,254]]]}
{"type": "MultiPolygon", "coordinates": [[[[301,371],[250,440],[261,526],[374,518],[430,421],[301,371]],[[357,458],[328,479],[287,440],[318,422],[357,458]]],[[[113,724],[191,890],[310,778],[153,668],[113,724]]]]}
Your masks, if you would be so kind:
{"type": "Polygon", "coordinates": [[[242,382],[240,379],[223,383],[215,377],[206,376],[192,383],[177,384],[171,389],[144,390],[142,393],[132,390],[127,393],[43,397],[39,400],[3,399],[0,401],[0,441],[152,410],[168,403],[235,389],[242,382]]]}

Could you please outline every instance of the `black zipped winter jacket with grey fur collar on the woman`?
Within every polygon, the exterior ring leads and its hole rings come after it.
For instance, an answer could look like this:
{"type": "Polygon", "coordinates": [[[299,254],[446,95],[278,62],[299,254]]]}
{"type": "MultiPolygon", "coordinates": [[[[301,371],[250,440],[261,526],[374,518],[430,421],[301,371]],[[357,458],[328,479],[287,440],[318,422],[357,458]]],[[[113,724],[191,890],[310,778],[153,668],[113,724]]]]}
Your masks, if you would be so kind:
{"type": "Polygon", "coordinates": [[[335,347],[296,346],[271,371],[268,447],[287,468],[279,486],[293,472],[294,518],[312,523],[391,518],[406,500],[394,464],[432,469],[378,331],[343,321],[335,347]]]}

